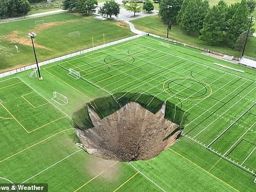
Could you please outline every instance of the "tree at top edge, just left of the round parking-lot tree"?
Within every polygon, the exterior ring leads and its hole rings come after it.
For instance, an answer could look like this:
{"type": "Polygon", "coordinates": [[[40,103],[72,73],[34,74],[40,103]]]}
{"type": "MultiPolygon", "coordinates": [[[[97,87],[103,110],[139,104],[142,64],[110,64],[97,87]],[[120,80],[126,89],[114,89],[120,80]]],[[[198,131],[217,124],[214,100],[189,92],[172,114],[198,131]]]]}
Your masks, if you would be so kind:
{"type": "Polygon", "coordinates": [[[77,0],[75,9],[77,12],[89,16],[96,12],[96,5],[98,5],[97,0],[77,0]]]}

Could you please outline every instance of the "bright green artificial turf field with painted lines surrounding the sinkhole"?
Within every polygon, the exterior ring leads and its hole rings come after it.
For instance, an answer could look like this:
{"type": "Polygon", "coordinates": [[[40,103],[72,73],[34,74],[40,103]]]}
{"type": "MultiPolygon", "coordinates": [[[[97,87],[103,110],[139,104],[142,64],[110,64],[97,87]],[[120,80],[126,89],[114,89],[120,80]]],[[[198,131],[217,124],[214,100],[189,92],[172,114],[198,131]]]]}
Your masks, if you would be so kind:
{"type": "Polygon", "coordinates": [[[255,191],[256,72],[161,42],[144,36],[55,62],[41,67],[43,81],[30,78],[32,70],[1,78],[0,177],[48,183],[50,191],[255,191]],[[67,75],[70,68],[79,79],[67,75]],[[68,102],[56,101],[54,91],[68,102]],[[189,113],[177,143],[131,163],[77,147],[73,112],[127,91],[189,113]]]}

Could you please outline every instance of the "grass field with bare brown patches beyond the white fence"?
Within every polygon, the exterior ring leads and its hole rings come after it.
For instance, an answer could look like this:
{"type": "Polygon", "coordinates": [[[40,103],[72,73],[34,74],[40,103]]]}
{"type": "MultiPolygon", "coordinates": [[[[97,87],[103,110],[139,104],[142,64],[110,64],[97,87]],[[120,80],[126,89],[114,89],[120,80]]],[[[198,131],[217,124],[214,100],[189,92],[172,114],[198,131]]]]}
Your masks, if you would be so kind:
{"type": "Polygon", "coordinates": [[[35,49],[38,61],[80,51],[105,42],[132,35],[129,26],[116,20],[100,21],[75,13],[19,20],[0,24],[0,72],[35,63],[31,40],[27,33],[35,32],[35,49]],[[35,25],[38,20],[44,23],[35,25]],[[68,33],[79,31],[80,37],[70,38],[68,33]],[[18,46],[16,51],[15,45],[18,46]]]}

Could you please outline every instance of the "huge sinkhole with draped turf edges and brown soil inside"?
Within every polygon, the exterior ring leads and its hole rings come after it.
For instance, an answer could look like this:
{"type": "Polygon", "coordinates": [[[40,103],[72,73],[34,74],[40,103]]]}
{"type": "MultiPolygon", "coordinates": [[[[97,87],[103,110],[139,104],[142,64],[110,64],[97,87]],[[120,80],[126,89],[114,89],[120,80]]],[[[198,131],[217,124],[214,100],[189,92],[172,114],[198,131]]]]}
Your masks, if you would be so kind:
{"type": "Polygon", "coordinates": [[[151,95],[116,98],[98,98],[74,113],[75,132],[88,153],[119,161],[147,160],[179,138],[180,123],[188,115],[181,109],[151,95]]]}

